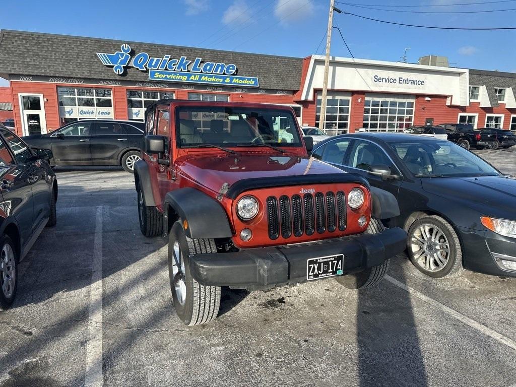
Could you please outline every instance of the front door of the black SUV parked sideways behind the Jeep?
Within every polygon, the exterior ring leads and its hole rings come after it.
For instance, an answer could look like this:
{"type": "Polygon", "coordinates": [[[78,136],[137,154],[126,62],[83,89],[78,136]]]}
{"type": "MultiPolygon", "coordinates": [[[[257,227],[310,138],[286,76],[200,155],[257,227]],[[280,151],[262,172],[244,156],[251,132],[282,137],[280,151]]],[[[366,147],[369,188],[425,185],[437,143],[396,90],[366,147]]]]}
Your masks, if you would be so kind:
{"type": "Polygon", "coordinates": [[[91,121],[77,121],[51,135],[56,165],[93,165],[91,163],[91,121]]]}

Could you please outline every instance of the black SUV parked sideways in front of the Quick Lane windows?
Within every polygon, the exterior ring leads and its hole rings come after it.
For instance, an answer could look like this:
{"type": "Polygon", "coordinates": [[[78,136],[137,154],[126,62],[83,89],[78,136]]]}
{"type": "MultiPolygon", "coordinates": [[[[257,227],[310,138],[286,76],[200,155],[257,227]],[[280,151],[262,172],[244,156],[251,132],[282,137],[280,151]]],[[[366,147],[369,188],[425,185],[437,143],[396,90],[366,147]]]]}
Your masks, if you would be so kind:
{"type": "Polygon", "coordinates": [[[141,158],[143,127],[138,121],[79,120],[22,138],[31,147],[52,149],[51,166],[121,165],[133,173],[141,158]]]}

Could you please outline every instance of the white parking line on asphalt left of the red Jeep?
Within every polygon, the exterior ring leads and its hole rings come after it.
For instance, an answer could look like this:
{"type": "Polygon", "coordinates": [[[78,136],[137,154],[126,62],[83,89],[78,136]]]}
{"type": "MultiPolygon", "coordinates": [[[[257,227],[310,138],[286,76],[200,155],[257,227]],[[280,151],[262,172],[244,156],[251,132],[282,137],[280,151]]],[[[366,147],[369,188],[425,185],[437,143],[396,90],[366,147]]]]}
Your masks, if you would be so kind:
{"type": "Polygon", "coordinates": [[[93,273],[90,285],[90,318],[86,347],[85,387],[102,386],[102,211],[96,207],[93,240],[93,273]]]}

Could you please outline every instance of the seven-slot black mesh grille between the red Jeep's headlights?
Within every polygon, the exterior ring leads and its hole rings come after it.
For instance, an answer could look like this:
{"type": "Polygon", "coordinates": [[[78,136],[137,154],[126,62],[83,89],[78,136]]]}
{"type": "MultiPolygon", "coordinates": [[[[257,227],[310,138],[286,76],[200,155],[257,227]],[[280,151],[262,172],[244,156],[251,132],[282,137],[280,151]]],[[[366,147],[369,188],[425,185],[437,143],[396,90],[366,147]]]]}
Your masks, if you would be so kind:
{"type": "Polygon", "coordinates": [[[266,200],[269,238],[280,235],[287,239],[292,235],[323,234],[346,230],[346,196],[343,191],[305,193],[302,197],[269,196],[266,200]]]}

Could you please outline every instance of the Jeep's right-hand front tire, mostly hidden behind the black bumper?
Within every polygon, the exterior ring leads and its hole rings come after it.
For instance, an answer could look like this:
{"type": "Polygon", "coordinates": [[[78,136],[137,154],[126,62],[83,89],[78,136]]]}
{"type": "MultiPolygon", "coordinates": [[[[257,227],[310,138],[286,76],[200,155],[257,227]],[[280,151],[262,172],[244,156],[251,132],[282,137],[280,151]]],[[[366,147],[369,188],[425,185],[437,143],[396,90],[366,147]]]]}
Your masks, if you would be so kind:
{"type": "MultiPolygon", "coordinates": [[[[366,234],[379,234],[385,230],[384,225],[379,219],[371,218],[366,234]]],[[[348,289],[359,290],[377,285],[385,277],[389,270],[390,260],[385,260],[381,265],[370,267],[359,273],[348,274],[345,276],[335,277],[335,280],[348,289]]]]}

